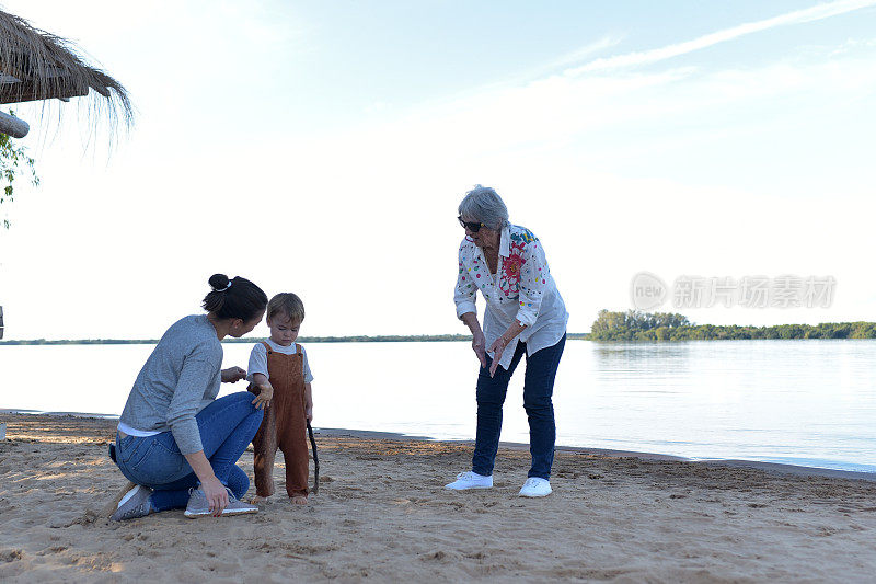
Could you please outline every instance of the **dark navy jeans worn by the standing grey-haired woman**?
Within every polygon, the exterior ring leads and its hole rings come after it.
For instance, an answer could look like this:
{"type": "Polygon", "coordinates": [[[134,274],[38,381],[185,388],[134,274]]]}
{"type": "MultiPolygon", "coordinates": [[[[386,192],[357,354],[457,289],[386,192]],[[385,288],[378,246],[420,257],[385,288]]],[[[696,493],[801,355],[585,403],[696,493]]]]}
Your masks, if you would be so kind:
{"type": "MultiPolygon", "coordinates": [[[[554,424],[554,380],[560,357],[566,345],[563,335],[555,345],[537,351],[527,356],[526,377],[523,378],[523,408],[529,417],[529,451],[532,455],[532,467],[529,477],[551,478],[551,466],[554,462],[554,443],[556,425],[554,424]]],[[[517,351],[508,369],[496,368],[495,377],[489,377],[493,359],[486,356],[486,367],[481,368],[477,376],[477,435],[474,442],[472,470],[477,474],[493,474],[493,463],[499,447],[502,432],[502,405],[508,390],[508,381],[526,355],[526,343],[517,343],[517,351]]]]}

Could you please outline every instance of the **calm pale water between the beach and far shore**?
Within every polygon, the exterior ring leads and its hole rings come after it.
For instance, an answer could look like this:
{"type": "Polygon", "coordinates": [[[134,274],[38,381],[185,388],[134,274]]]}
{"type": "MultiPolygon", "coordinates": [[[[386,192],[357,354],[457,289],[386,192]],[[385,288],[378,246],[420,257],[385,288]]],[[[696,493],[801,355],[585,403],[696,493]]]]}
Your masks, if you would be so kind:
{"type": "MultiPolygon", "coordinates": [[[[250,348],[224,345],[224,366],[245,368],[250,348]]],[[[151,350],[0,346],[0,408],[117,415],[151,350]]],[[[308,355],[316,426],[474,436],[468,343],[312,344],[308,355]]],[[[876,472],[875,363],[874,341],[569,341],[557,443],[876,472]]],[[[528,442],[522,370],[502,437],[528,442]]]]}

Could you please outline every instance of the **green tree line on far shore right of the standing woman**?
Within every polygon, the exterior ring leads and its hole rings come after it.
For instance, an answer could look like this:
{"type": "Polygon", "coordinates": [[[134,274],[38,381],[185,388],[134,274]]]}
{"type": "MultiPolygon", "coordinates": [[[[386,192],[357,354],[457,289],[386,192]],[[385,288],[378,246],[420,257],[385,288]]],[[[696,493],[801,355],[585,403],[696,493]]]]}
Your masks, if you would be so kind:
{"type": "Polygon", "coordinates": [[[876,322],[820,324],[694,324],[671,312],[610,312],[600,310],[588,335],[590,341],[729,341],[760,339],[876,339],[876,322]]]}

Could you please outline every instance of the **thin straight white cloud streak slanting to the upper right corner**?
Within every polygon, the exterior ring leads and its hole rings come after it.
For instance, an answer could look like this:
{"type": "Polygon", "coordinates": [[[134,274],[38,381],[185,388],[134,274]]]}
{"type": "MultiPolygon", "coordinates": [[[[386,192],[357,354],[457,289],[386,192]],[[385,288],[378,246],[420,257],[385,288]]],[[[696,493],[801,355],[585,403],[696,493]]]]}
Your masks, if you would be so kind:
{"type": "Polygon", "coordinates": [[[773,16],[772,19],[740,24],[739,26],[711,33],[699,38],[694,38],[693,41],[685,41],[683,43],[677,43],[675,45],[668,45],[652,50],[629,53],[626,55],[618,55],[614,57],[597,59],[581,67],[569,69],[566,71],[566,75],[574,76],[592,71],[607,71],[625,67],[635,67],[639,65],[650,65],[653,62],[658,62],[672,57],[678,57],[680,55],[685,55],[688,53],[693,53],[694,50],[711,47],[713,45],[717,45],[718,43],[733,41],[735,38],[739,38],[740,36],[775,28],[776,26],[819,21],[873,5],[876,5],[876,0],[840,0],[838,2],[819,4],[812,8],[796,10],[794,12],[773,16]]]}

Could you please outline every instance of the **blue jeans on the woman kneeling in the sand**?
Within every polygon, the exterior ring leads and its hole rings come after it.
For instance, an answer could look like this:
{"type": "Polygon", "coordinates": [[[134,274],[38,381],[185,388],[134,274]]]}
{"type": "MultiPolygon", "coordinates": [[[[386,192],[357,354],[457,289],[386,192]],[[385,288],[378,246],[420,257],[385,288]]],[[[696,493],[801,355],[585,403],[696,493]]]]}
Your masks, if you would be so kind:
{"type": "MultiPolygon", "coordinates": [[[[237,462],[264,415],[252,401],[250,392],[231,393],[195,415],[204,455],[219,482],[231,489],[238,499],[250,489],[250,478],[237,462]]],[[[171,432],[145,437],[119,438],[116,435],[116,465],[131,482],[154,490],[151,502],[155,511],[185,508],[188,490],[199,484],[171,432]]]]}

